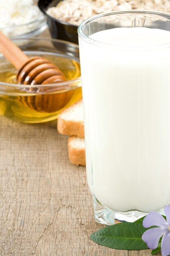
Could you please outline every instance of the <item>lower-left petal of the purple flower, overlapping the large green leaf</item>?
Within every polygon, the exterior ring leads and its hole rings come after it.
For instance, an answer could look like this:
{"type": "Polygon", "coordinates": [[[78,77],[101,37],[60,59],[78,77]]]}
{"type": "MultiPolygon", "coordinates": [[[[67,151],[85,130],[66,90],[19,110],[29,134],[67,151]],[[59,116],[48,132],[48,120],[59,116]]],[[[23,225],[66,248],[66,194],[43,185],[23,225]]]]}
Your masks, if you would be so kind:
{"type": "Polygon", "coordinates": [[[150,249],[156,249],[159,243],[159,239],[163,236],[164,232],[161,227],[154,227],[148,229],[142,235],[142,240],[147,244],[150,249]]]}

